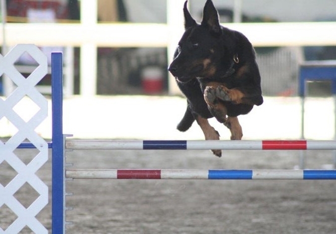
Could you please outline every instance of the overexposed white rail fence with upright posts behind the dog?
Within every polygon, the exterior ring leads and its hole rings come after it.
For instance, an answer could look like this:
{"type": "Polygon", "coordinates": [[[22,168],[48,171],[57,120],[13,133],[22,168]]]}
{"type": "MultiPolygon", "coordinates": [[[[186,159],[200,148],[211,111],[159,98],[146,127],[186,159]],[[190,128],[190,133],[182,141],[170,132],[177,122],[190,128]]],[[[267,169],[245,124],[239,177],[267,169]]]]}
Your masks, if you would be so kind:
{"type": "MultiPolygon", "coordinates": [[[[81,1],[80,24],[7,24],[9,46],[32,43],[39,46],[76,46],[80,54],[80,93],[96,93],[97,47],[167,47],[169,61],[183,33],[182,6],[185,0],[167,0],[167,24],[98,24],[97,0],[81,1]],[[176,9],[181,9],[177,12],[176,9]]],[[[254,46],[331,46],[336,45],[336,24],[251,23],[228,27],[245,34],[254,46]]],[[[0,43],[3,43],[0,33],[0,43]]],[[[178,89],[173,79],[170,93],[178,89]]]]}

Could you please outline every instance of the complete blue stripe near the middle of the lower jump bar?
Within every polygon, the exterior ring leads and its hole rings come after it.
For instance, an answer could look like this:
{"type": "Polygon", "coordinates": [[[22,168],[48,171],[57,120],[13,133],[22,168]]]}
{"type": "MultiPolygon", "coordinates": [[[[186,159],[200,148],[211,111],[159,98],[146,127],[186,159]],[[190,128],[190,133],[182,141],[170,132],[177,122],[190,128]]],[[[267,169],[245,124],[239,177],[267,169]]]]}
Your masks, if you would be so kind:
{"type": "Polygon", "coordinates": [[[252,179],[252,170],[209,170],[208,179],[252,179]]]}

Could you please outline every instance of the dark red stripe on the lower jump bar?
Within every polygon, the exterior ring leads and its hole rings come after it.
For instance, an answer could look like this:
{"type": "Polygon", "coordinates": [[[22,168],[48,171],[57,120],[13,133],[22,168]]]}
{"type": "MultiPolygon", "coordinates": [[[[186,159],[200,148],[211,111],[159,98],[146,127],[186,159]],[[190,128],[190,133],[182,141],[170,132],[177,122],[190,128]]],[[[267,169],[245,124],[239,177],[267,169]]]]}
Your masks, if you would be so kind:
{"type": "Polygon", "coordinates": [[[117,179],[160,179],[161,170],[117,170],[117,179]]]}

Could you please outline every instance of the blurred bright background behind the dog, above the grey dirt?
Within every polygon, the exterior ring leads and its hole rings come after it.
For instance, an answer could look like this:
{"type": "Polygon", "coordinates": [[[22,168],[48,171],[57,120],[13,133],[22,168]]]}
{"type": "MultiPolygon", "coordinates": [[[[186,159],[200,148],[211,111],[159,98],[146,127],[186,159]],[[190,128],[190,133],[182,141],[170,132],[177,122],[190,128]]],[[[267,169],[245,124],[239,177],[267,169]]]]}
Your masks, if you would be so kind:
{"type": "MultiPolygon", "coordinates": [[[[184,113],[185,99],[181,98],[175,79],[167,72],[184,32],[184,2],[0,0],[2,54],[6,55],[16,44],[35,44],[47,55],[50,65],[52,51],[64,53],[64,101],[65,108],[69,108],[70,112],[66,109],[64,113],[65,129],[77,134],[77,137],[141,138],[147,133],[149,138],[202,139],[199,128],[197,134],[188,131],[189,135],[178,135],[176,124],[184,113]],[[141,95],[141,98],[129,95],[141,95]],[[133,106],[121,116],[110,114],[111,109],[122,109],[127,105],[137,105],[136,111],[132,111],[135,110],[133,106]],[[91,119],[86,116],[86,106],[93,108],[90,114],[97,116],[92,119],[99,119],[101,126],[82,127],[86,124],[85,120],[80,121],[82,118],[91,119]],[[152,119],[162,120],[163,115],[171,119],[164,119],[164,126],[160,123],[154,126],[152,119]],[[128,121],[125,116],[136,116],[137,120],[128,121]],[[117,121],[111,121],[111,118],[117,121]],[[119,121],[127,121],[127,126],[137,128],[140,135],[136,135],[135,130],[133,133],[125,132],[119,121]],[[149,125],[153,125],[150,131],[147,128],[149,125]],[[106,132],[103,133],[103,129],[106,132]],[[156,131],[160,130],[165,135],[158,137],[156,131]]],[[[336,1],[213,2],[221,24],[245,34],[257,52],[265,103],[254,108],[247,118],[240,118],[242,125],[249,127],[244,128],[245,138],[299,138],[299,69],[307,61],[336,60],[336,1]]],[[[205,0],[188,2],[190,12],[198,22],[202,19],[204,3],[205,0]]],[[[25,76],[36,66],[27,54],[16,62],[17,69],[25,76]]],[[[331,86],[330,80],[306,84],[309,96],[329,98],[326,101],[313,100],[313,107],[307,109],[311,118],[306,121],[309,128],[305,127],[310,138],[330,139],[334,136],[331,86]],[[318,107],[322,110],[316,111],[318,107]],[[323,111],[326,113],[323,114],[323,111]],[[317,120],[316,113],[319,113],[317,120]],[[320,119],[321,116],[327,119],[320,119]],[[323,127],[322,123],[325,124],[323,127]]],[[[15,88],[16,85],[4,75],[0,77],[0,95],[8,96],[15,88]]],[[[50,96],[50,69],[37,88],[46,97],[50,96]]],[[[5,127],[1,129],[0,135],[11,133],[5,131],[5,127]]],[[[44,126],[40,130],[43,135],[42,129],[44,126]]],[[[224,134],[224,137],[229,136],[224,134]]]]}

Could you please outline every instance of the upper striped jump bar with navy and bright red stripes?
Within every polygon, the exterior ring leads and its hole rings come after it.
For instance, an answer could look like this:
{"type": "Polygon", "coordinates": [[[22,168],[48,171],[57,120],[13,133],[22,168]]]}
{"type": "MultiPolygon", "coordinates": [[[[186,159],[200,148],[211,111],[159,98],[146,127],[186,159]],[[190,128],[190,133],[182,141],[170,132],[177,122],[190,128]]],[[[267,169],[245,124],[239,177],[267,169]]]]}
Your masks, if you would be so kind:
{"type": "Polygon", "coordinates": [[[67,149],[235,149],[336,150],[334,140],[83,140],[67,139],[67,149]]]}

